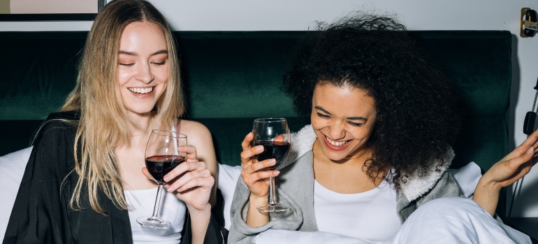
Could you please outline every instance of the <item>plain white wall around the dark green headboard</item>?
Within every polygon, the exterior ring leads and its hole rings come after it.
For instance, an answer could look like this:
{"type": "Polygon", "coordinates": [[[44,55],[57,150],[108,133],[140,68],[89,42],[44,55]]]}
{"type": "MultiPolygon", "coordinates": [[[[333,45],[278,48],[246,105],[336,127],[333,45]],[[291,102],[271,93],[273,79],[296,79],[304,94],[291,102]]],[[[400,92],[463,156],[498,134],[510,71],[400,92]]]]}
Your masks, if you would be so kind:
{"type": "MultiPolygon", "coordinates": [[[[538,77],[538,35],[519,37],[521,8],[538,10],[535,0],[152,0],[180,31],[305,30],[314,20],[330,21],[351,10],[398,13],[410,30],[508,30],[513,33],[511,148],[521,144],[525,113],[532,108],[538,77]]],[[[0,22],[0,31],[87,31],[91,22],[0,22]]],[[[514,217],[538,217],[538,169],[525,177],[514,217]]],[[[518,191],[519,192],[519,191],[518,191]]]]}

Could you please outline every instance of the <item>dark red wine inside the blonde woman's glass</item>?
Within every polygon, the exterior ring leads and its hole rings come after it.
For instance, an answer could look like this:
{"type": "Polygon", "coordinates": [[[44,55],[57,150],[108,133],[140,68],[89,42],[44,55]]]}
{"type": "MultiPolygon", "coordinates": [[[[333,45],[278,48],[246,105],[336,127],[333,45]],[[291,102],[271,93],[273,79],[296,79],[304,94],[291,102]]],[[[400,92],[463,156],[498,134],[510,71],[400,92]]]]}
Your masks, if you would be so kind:
{"type": "Polygon", "coordinates": [[[182,162],[185,158],[180,155],[154,155],[146,158],[146,167],[157,183],[164,184],[163,177],[182,162]]]}

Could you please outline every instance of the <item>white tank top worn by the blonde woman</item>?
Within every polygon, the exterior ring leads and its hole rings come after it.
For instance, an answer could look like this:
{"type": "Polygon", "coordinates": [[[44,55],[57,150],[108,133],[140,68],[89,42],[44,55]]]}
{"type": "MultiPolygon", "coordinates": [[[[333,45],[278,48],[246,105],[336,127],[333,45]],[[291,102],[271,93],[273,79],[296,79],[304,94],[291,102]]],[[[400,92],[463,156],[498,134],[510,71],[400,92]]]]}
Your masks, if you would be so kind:
{"type": "Polygon", "coordinates": [[[180,243],[181,231],[185,219],[187,206],[183,201],[177,199],[173,193],[167,192],[163,188],[161,207],[159,208],[159,218],[163,218],[172,223],[168,229],[152,229],[143,227],[136,222],[136,218],[147,216],[153,213],[157,189],[147,190],[124,190],[127,204],[129,204],[129,222],[133,231],[133,243],[180,243]]]}

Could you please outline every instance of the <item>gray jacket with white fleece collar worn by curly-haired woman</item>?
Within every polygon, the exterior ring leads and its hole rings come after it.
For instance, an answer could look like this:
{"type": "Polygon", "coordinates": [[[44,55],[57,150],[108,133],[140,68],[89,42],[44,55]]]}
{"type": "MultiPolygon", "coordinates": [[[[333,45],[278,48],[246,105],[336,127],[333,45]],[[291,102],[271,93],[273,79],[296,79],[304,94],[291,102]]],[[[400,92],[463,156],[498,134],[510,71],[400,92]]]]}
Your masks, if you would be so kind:
{"type": "MultiPolygon", "coordinates": [[[[312,167],[312,145],[316,134],[312,125],[307,125],[291,135],[291,151],[286,161],[279,167],[277,177],[278,201],[291,206],[291,211],[270,213],[270,222],[261,227],[249,227],[246,223],[250,190],[239,177],[235,186],[231,205],[231,227],[228,243],[251,244],[252,238],[266,229],[286,229],[296,231],[318,231],[314,214],[314,170],[312,167]]],[[[453,176],[446,171],[454,153],[451,148],[442,160],[444,164],[435,170],[437,162],[432,162],[430,174],[419,176],[416,172],[407,174],[407,182],[401,183],[396,199],[396,213],[403,223],[416,208],[440,197],[458,197],[460,190],[453,176]]]]}

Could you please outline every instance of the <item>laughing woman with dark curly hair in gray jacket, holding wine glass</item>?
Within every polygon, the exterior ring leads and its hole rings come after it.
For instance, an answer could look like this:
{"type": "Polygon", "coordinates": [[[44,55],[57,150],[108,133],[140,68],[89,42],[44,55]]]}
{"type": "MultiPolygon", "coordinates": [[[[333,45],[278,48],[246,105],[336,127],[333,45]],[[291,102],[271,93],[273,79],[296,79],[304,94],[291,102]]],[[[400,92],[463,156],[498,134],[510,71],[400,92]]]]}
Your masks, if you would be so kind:
{"type": "MultiPolygon", "coordinates": [[[[275,160],[258,162],[263,148],[250,146],[252,133],[245,137],[231,243],[249,243],[267,229],[390,241],[423,204],[459,197],[447,171],[461,123],[456,92],[402,24],[364,15],[321,25],[298,50],[285,86],[312,125],[292,136],[278,170],[267,169],[275,160]],[[292,210],[261,213],[256,206],[267,203],[268,178],[277,175],[279,201],[292,210]]],[[[532,167],[523,163],[536,153],[537,138],[481,178],[474,200],[490,215],[500,188],[532,167]]]]}

